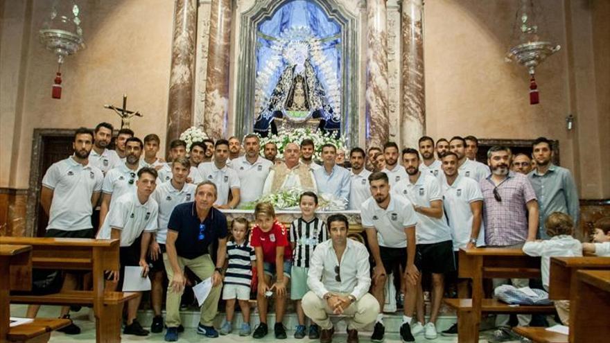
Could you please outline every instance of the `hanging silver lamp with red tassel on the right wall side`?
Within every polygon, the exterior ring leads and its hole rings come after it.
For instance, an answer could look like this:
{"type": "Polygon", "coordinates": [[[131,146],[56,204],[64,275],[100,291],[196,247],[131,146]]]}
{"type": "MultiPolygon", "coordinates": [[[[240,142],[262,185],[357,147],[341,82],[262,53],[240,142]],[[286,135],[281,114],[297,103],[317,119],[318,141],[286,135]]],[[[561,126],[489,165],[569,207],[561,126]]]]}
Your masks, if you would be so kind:
{"type": "Polygon", "coordinates": [[[533,0],[521,0],[521,6],[515,14],[513,35],[519,36],[516,45],[506,54],[507,62],[517,62],[528,68],[530,74],[530,105],[540,102],[538,85],[534,74],[536,67],[548,56],[556,53],[561,46],[543,41],[539,38],[539,27],[536,24],[536,12],[533,0]]]}

